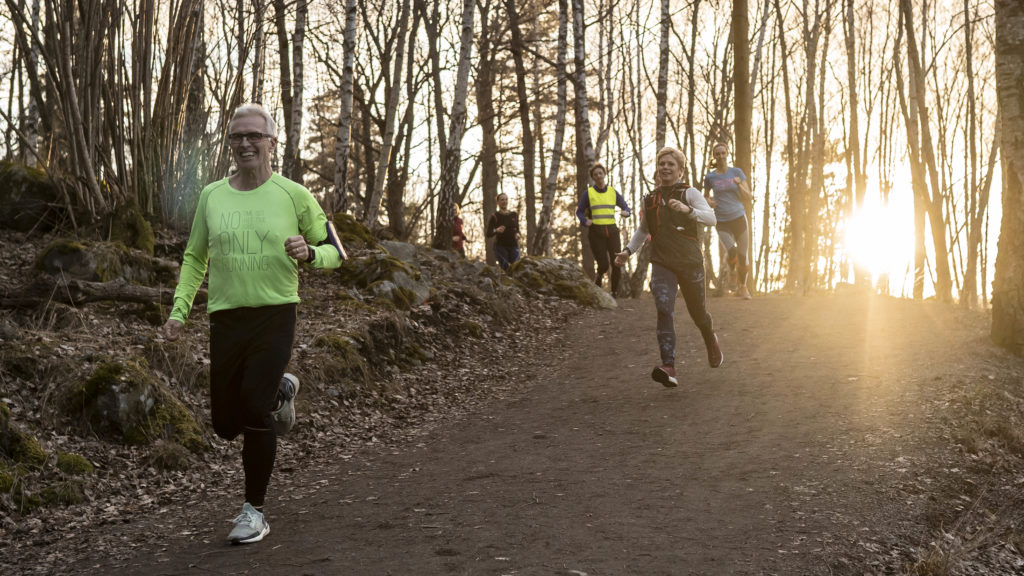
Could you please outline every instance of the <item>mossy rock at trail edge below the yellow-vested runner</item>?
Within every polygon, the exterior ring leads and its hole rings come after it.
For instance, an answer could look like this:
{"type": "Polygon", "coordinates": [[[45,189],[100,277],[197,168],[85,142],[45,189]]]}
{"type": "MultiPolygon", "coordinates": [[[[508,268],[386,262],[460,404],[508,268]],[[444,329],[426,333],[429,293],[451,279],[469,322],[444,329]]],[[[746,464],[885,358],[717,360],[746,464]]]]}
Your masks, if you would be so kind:
{"type": "Polygon", "coordinates": [[[610,294],[591,282],[580,266],[569,260],[525,256],[509,268],[508,278],[535,292],[575,300],[588,306],[618,306],[610,294]]]}

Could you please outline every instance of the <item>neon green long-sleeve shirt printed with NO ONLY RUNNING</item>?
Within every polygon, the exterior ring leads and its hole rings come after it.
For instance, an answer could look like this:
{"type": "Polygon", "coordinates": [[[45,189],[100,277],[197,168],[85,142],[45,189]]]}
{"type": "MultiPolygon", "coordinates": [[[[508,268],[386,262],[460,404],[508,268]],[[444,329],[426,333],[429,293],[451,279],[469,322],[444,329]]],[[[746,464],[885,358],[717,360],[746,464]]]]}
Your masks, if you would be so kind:
{"type": "Polygon", "coordinates": [[[184,322],[210,272],[210,313],[299,301],[298,261],[285,252],[285,239],[301,235],[316,252],[313,266],[338,268],[341,255],[327,239],[327,216],[299,183],[273,173],[252,191],[238,191],[227,178],[200,194],[171,318],[184,322]]]}

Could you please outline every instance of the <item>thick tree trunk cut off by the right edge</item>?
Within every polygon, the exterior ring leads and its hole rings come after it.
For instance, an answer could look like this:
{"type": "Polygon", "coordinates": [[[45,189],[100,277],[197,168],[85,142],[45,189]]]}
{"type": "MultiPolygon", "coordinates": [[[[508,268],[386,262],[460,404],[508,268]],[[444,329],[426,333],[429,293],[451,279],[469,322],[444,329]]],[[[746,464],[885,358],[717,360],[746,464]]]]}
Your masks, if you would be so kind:
{"type": "Polygon", "coordinates": [[[1002,225],[992,281],[992,341],[1024,356],[1024,5],[995,0],[1002,225]]]}

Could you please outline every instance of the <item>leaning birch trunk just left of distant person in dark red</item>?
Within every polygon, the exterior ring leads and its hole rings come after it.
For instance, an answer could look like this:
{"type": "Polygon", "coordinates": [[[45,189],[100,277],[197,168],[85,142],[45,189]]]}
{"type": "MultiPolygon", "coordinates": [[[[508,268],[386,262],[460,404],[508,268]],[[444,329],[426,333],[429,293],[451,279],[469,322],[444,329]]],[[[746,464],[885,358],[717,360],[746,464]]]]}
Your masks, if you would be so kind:
{"type": "Polygon", "coordinates": [[[459,70],[456,76],[455,95],[452,102],[452,123],[449,129],[447,150],[441,168],[441,194],[437,204],[437,224],[434,231],[434,248],[452,246],[455,230],[455,197],[459,193],[459,168],[462,165],[462,136],[466,130],[466,92],[469,86],[470,60],[473,55],[473,5],[474,0],[463,0],[462,34],[459,70]]]}

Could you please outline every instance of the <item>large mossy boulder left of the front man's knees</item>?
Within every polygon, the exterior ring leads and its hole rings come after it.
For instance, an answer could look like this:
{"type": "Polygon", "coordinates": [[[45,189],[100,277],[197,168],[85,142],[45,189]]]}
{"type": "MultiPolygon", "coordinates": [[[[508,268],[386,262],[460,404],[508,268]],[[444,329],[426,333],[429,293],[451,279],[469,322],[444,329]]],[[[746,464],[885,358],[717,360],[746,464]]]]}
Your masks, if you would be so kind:
{"type": "Polygon", "coordinates": [[[150,373],[145,360],[101,363],[65,395],[66,411],[109,440],[142,445],[169,439],[193,452],[206,443],[196,419],[150,373]]]}

